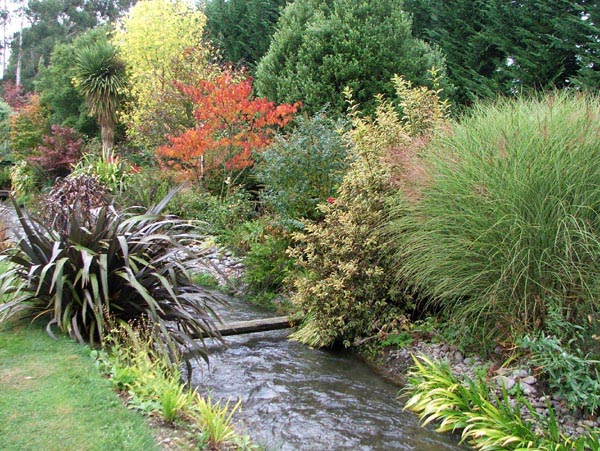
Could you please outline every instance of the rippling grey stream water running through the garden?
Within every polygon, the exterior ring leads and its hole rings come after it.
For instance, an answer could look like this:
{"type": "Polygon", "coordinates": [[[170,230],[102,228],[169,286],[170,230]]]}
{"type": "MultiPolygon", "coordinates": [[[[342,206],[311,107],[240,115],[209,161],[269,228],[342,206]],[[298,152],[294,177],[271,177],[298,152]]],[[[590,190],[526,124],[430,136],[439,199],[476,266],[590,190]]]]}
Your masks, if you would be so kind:
{"type": "MultiPolygon", "coordinates": [[[[269,316],[239,301],[221,316],[269,316]]],[[[350,353],[310,349],[289,331],[225,337],[210,345],[210,367],[192,384],[214,398],[241,399],[241,429],[267,450],[459,450],[455,437],[418,425],[402,412],[398,387],[350,353]]]]}

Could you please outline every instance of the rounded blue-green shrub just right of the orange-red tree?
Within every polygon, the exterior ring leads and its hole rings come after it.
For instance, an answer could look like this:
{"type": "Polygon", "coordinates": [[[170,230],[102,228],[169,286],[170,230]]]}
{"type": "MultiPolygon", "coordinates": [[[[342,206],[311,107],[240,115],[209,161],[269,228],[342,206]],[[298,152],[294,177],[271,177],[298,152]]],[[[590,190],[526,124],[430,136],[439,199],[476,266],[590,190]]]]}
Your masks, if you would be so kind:
{"type": "Polygon", "coordinates": [[[321,218],[317,205],[335,196],[348,167],[343,121],[320,112],[299,117],[297,124],[290,134],[275,138],[255,168],[265,188],[263,202],[287,223],[321,218]]]}

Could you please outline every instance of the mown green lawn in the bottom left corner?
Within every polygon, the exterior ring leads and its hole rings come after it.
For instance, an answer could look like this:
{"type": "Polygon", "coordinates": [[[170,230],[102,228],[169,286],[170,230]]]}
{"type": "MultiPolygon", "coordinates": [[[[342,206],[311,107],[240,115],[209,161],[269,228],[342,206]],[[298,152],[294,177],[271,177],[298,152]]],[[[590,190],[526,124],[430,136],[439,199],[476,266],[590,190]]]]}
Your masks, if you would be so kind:
{"type": "Polygon", "coordinates": [[[37,325],[0,325],[0,449],[153,450],[84,347],[37,325]]]}

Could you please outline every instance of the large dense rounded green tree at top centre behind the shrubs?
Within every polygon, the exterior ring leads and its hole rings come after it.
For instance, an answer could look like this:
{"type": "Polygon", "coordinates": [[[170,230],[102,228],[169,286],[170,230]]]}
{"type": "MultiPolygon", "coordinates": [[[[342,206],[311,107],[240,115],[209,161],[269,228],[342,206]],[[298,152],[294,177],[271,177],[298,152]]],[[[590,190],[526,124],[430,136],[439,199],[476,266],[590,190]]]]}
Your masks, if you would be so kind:
{"type": "Polygon", "coordinates": [[[349,86],[373,114],[375,95],[395,94],[395,74],[432,86],[427,71],[433,66],[444,68],[444,58],[412,35],[402,2],[296,0],[282,11],[257,66],[256,89],[278,103],[300,100],[309,114],[329,104],[340,115],[349,86]]]}

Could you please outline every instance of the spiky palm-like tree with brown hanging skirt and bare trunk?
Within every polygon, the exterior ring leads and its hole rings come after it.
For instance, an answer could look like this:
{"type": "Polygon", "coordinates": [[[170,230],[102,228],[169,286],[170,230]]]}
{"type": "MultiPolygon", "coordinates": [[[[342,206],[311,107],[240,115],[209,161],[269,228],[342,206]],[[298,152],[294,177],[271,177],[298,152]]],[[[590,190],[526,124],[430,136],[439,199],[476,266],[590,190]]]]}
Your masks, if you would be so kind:
{"type": "Polygon", "coordinates": [[[116,113],[125,87],[125,64],[107,42],[84,47],[76,54],[75,84],[100,125],[102,155],[114,145],[116,113]]]}

